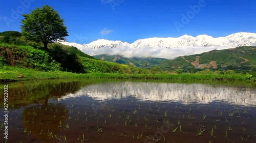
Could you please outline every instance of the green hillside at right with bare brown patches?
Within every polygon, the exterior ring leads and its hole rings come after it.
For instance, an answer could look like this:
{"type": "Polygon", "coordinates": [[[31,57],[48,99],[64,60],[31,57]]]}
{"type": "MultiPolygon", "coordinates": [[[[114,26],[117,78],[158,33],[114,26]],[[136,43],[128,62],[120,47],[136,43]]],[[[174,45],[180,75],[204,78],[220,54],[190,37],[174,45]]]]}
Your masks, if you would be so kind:
{"type": "Polygon", "coordinates": [[[242,46],[179,56],[174,60],[162,63],[160,67],[163,70],[173,68],[256,70],[256,47],[242,46]]]}

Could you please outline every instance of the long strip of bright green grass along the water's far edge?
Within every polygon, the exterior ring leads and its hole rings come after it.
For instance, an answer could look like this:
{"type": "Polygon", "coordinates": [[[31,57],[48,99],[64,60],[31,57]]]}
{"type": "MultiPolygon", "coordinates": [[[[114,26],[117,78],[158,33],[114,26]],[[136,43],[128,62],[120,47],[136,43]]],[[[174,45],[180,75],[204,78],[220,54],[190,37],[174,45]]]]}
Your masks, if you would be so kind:
{"type": "MultiPolygon", "coordinates": [[[[189,80],[228,80],[246,81],[248,75],[244,74],[110,74],[110,73],[88,73],[77,74],[60,71],[36,71],[33,69],[4,66],[0,69],[1,81],[58,79],[58,78],[118,78],[118,79],[189,79],[189,80]]],[[[251,78],[248,81],[256,81],[251,78]]]]}

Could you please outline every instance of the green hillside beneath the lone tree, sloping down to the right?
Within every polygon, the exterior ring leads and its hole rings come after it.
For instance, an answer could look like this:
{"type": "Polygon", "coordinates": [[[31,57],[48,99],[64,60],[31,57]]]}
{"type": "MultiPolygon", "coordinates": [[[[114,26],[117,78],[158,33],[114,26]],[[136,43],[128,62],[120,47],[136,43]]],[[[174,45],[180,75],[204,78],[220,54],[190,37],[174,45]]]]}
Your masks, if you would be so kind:
{"type": "Polygon", "coordinates": [[[0,67],[29,68],[38,71],[67,71],[73,73],[148,73],[146,70],[95,59],[76,47],[25,40],[19,32],[0,33],[0,67]]]}

